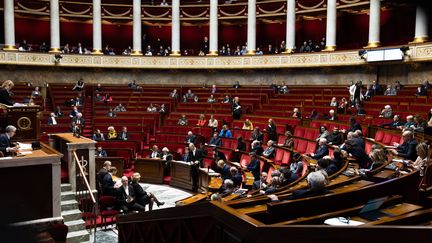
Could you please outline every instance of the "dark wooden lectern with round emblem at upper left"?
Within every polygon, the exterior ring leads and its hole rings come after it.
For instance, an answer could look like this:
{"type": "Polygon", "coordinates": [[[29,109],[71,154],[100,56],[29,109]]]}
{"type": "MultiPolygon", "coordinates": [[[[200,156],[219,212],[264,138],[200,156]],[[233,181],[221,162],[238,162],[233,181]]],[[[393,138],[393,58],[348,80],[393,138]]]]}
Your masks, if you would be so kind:
{"type": "Polygon", "coordinates": [[[8,125],[15,126],[14,140],[39,140],[41,108],[34,106],[7,106],[0,104],[0,121],[3,131],[8,125]]]}

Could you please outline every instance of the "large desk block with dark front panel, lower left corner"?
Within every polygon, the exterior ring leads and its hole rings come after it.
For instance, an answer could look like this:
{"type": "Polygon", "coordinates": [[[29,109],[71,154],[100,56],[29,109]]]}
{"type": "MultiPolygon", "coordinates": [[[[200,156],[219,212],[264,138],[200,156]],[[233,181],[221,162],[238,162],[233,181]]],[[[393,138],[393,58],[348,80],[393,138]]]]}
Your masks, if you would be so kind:
{"type": "Polygon", "coordinates": [[[2,220],[36,224],[61,219],[62,154],[46,144],[41,146],[32,154],[0,159],[0,178],[5,183],[12,183],[2,187],[2,220]]]}

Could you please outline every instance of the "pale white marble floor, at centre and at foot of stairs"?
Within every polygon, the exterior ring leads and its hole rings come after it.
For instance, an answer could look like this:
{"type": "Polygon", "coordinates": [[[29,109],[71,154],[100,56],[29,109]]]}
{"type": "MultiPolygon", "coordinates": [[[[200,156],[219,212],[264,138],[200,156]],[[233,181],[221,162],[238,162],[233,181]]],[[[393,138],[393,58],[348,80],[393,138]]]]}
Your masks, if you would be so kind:
{"type": "MultiPolygon", "coordinates": [[[[159,201],[165,202],[165,204],[162,205],[160,208],[154,205],[153,210],[175,207],[176,201],[192,195],[190,192],[183,191],[178,188],[170,187],[168,185],[157,185],[157,184],[147,184],[147,183],[140,183],[140,184],[146,192],[153,193],[159,201]]],[[[148,206],[146,207],[146,210],[148,210],[148,206]]],[[[91,236],[91,238],[93,239],[93,236],[91,236]]],[[[118,242],[118,231],[115,228],[115,225],[108,226],[106,230],[102,228],[98,228],[96,230],[96,242],[103,242],[103,243],[118,242]]]]}

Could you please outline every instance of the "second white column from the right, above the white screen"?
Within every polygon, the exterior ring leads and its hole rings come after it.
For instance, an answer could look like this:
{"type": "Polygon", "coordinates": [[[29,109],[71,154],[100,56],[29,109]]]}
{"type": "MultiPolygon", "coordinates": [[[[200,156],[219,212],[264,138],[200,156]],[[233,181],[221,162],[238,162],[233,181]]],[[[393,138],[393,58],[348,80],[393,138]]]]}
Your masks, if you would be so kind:
{"type": "Polygon", "coordinates": [[[367,47],[373,48],[381,45],[380,42],[381,0],[370,0],[369,13],[369,42],[367,47]]]}

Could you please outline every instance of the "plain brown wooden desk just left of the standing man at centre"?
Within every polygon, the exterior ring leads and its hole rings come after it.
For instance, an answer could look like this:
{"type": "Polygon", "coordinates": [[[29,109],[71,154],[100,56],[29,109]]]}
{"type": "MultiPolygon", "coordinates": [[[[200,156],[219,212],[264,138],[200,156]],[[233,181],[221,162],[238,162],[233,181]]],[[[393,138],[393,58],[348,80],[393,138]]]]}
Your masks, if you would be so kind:
{"type": "Polygon", "coordinates": [[[135,161],[135,172],[141,174],[141,182],[163,183],[164,160],[139,158],[135,161]]]}

